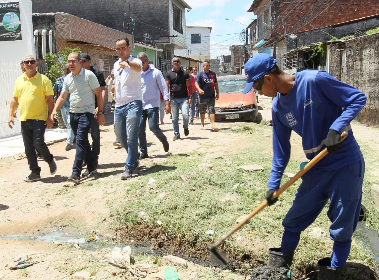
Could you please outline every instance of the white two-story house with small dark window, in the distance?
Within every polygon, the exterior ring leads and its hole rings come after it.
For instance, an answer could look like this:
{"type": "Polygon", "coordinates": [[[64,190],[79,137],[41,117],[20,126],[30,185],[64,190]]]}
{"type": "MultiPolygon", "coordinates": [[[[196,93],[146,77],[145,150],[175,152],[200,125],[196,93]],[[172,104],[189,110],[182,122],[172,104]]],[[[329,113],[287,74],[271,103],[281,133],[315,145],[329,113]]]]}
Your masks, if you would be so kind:
{"type": "Polygon", "coordinates": [[[186,26],[187,48],[175,50],[175,55],[186,56],[197,60],[208,60],[211,58],[209,26],[186,26]]]}

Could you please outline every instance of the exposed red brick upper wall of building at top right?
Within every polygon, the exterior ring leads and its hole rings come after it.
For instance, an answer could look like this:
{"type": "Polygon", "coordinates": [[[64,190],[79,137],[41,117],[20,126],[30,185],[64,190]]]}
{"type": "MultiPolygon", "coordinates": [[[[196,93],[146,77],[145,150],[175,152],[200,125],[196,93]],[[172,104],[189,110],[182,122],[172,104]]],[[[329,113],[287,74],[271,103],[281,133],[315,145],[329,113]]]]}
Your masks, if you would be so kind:
{"type": "MultiPolygon", "coordinates": [[[[273,5],[271,4],[271,11],[274,11],[273,5]]],[[[299,0],[296,3],[293,0],[282,0],[277,5],[279,35],[285,32],[304,32],[379,14],[378,0],[299,0]]]]}

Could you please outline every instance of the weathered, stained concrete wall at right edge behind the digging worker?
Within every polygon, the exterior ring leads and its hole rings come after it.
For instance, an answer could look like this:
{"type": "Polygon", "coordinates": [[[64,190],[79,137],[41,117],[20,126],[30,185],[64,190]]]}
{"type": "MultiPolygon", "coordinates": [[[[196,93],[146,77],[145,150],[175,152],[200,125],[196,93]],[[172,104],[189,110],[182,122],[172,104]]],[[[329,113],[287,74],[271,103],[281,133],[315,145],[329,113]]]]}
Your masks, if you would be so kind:
{"type": "Polygon", "coordinates": [[[329,71],[334,77],[340,80],[346,79],[346,83],[366,94],[366,106],[356,120],[379,127],[379,44],[377,42],[379,42],[379,33],[346,41],[345,50],[331,46],[329,71]],[[345,73],[341,72],[343,68],[341,66],[345,64],[344,57],[346,57],[345,73]]]}

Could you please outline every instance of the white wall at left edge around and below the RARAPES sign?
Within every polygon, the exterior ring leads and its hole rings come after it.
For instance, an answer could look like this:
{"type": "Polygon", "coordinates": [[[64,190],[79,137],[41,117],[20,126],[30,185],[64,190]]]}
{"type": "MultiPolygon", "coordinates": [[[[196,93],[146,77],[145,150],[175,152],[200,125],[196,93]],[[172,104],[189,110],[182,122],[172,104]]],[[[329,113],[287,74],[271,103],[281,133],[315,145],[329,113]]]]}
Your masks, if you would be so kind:
{"type": "MultiPolygon", "coordinates": [[[[0,3],[7,2],[10,1],[0,0],[0,3]]],[[[12,99],[14,82],[22,74],[20,62],[26,55],[34,55],[31,0],[19,2],[22,40],[0,42],[0,138],[21,133],[19,118],[14,119],[13,129],[8,127],[9,102],[12,99]]],[[[19,115],[17,110],[17,116],[19,115]]]]}

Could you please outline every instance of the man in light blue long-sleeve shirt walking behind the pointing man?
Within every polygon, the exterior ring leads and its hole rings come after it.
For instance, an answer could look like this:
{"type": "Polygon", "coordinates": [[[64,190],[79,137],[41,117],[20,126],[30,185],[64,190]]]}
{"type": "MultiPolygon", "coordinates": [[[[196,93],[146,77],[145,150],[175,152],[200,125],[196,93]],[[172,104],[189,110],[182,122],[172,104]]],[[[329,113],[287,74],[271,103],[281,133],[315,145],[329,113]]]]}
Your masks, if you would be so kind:
{"type": "Polygon", "coordinates": [[[156,69],[153,65],[149,64],[149,58],[144,52],[140,52],[137,58],[142,61],[141,73],[141,87],[142,87],[142,102],[143,111],[139,121],[139,151],[141,152],[141,159],[148,158],[147,154],[147,141],[146,141],[146,120],[149,119],[149,128],[154,133],[159,141],[163,144],[164,152],[168,152],[170,145],[168,144],[167,137],[164,136],[162,130],[158,125],[159,107],[160,107],[160,94],[162,92],[163,99],[166,102],[164,111],[169,114],[170,108],[170,94],[167,89],[166,82],[160,70],[156,69]]]}

